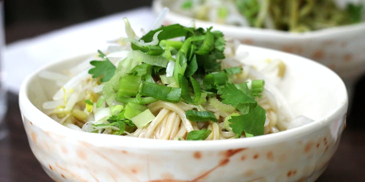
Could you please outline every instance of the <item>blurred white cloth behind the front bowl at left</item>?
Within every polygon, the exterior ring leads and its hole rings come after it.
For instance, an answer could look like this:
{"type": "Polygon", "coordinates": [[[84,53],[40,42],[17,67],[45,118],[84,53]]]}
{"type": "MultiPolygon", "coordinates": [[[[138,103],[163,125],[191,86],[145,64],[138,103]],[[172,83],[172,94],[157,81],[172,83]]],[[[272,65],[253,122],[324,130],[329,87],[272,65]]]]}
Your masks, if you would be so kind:
{"type": "Polygon", "coordinates": [[[140,35],[140,29],[149,29],[155,15],[150,8],[142,7],[8,44],[1,63],[5,87],[17,93],[26,75],[43,65],[105,49],[107,40],[126,36],[123,17],[128,18],[136,34],[140,35]]]}

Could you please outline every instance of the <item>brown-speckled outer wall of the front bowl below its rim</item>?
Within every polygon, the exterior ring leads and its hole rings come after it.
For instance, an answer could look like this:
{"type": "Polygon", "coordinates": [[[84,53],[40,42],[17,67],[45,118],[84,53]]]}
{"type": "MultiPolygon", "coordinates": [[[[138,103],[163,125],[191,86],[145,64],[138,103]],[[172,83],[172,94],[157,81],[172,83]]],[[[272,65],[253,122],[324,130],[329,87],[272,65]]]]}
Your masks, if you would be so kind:
{"type": "Polygon", "coordinates": [[[242,142],[214,151],[113,149],[42,131],[26,118],[24,127],[35,157],[58,182],[312,182],[335,152],[343,122],[270,146],[242,142]]]}

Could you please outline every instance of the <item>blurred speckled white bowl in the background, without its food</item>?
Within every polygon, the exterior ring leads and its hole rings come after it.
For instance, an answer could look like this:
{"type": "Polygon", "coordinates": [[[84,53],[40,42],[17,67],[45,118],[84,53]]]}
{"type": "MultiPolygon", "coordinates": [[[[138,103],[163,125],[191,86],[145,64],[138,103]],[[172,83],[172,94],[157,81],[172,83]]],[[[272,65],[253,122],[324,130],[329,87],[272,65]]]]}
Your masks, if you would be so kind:
{"type": "MultiPolygon", "coordinates": [[[[169,7],[163,24],[191,24],[192,17],[172,10],[174,0],[154,0],[152,8],[159,13],[169,7]]],[[[210,27],[220,30],[226,37],[232,37],[244,44],[273,48],[316,60],[334,70],[345,82],[349,94],[354,82],[365,71],[365,22],[327,28],[305,33],[290,33],[279,30],[239,27],[195,20],[196,27],[210,27]]]]}

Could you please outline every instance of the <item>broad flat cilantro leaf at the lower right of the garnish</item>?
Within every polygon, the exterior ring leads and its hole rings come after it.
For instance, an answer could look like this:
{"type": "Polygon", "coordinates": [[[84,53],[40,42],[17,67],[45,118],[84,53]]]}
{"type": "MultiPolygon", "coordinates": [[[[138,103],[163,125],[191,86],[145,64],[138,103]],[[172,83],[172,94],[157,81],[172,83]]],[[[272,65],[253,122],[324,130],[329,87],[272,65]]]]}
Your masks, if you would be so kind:
{"type": "Polygon", "coordinates": [[[253,136],[263,135],[263,125],[266,120],[266,111],[259,105],[256,105],[248,114],[232,116],[228,121],[232,131],[241,135],[242,132],[253,136]]]}

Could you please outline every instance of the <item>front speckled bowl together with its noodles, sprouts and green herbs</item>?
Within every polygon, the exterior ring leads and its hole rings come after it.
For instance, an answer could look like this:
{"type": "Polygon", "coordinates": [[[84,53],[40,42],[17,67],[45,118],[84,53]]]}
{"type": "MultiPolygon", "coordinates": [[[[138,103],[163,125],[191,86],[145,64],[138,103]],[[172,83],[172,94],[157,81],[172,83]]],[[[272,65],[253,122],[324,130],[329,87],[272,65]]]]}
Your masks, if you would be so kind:
{"type": "Polygon", "coordinates": [[[347,110],[334,72],[212,28],[138,38],[124,20],[127,38],[21,86],[30,148],[53,180],[312,182],[325,170],[347,110]]]}

